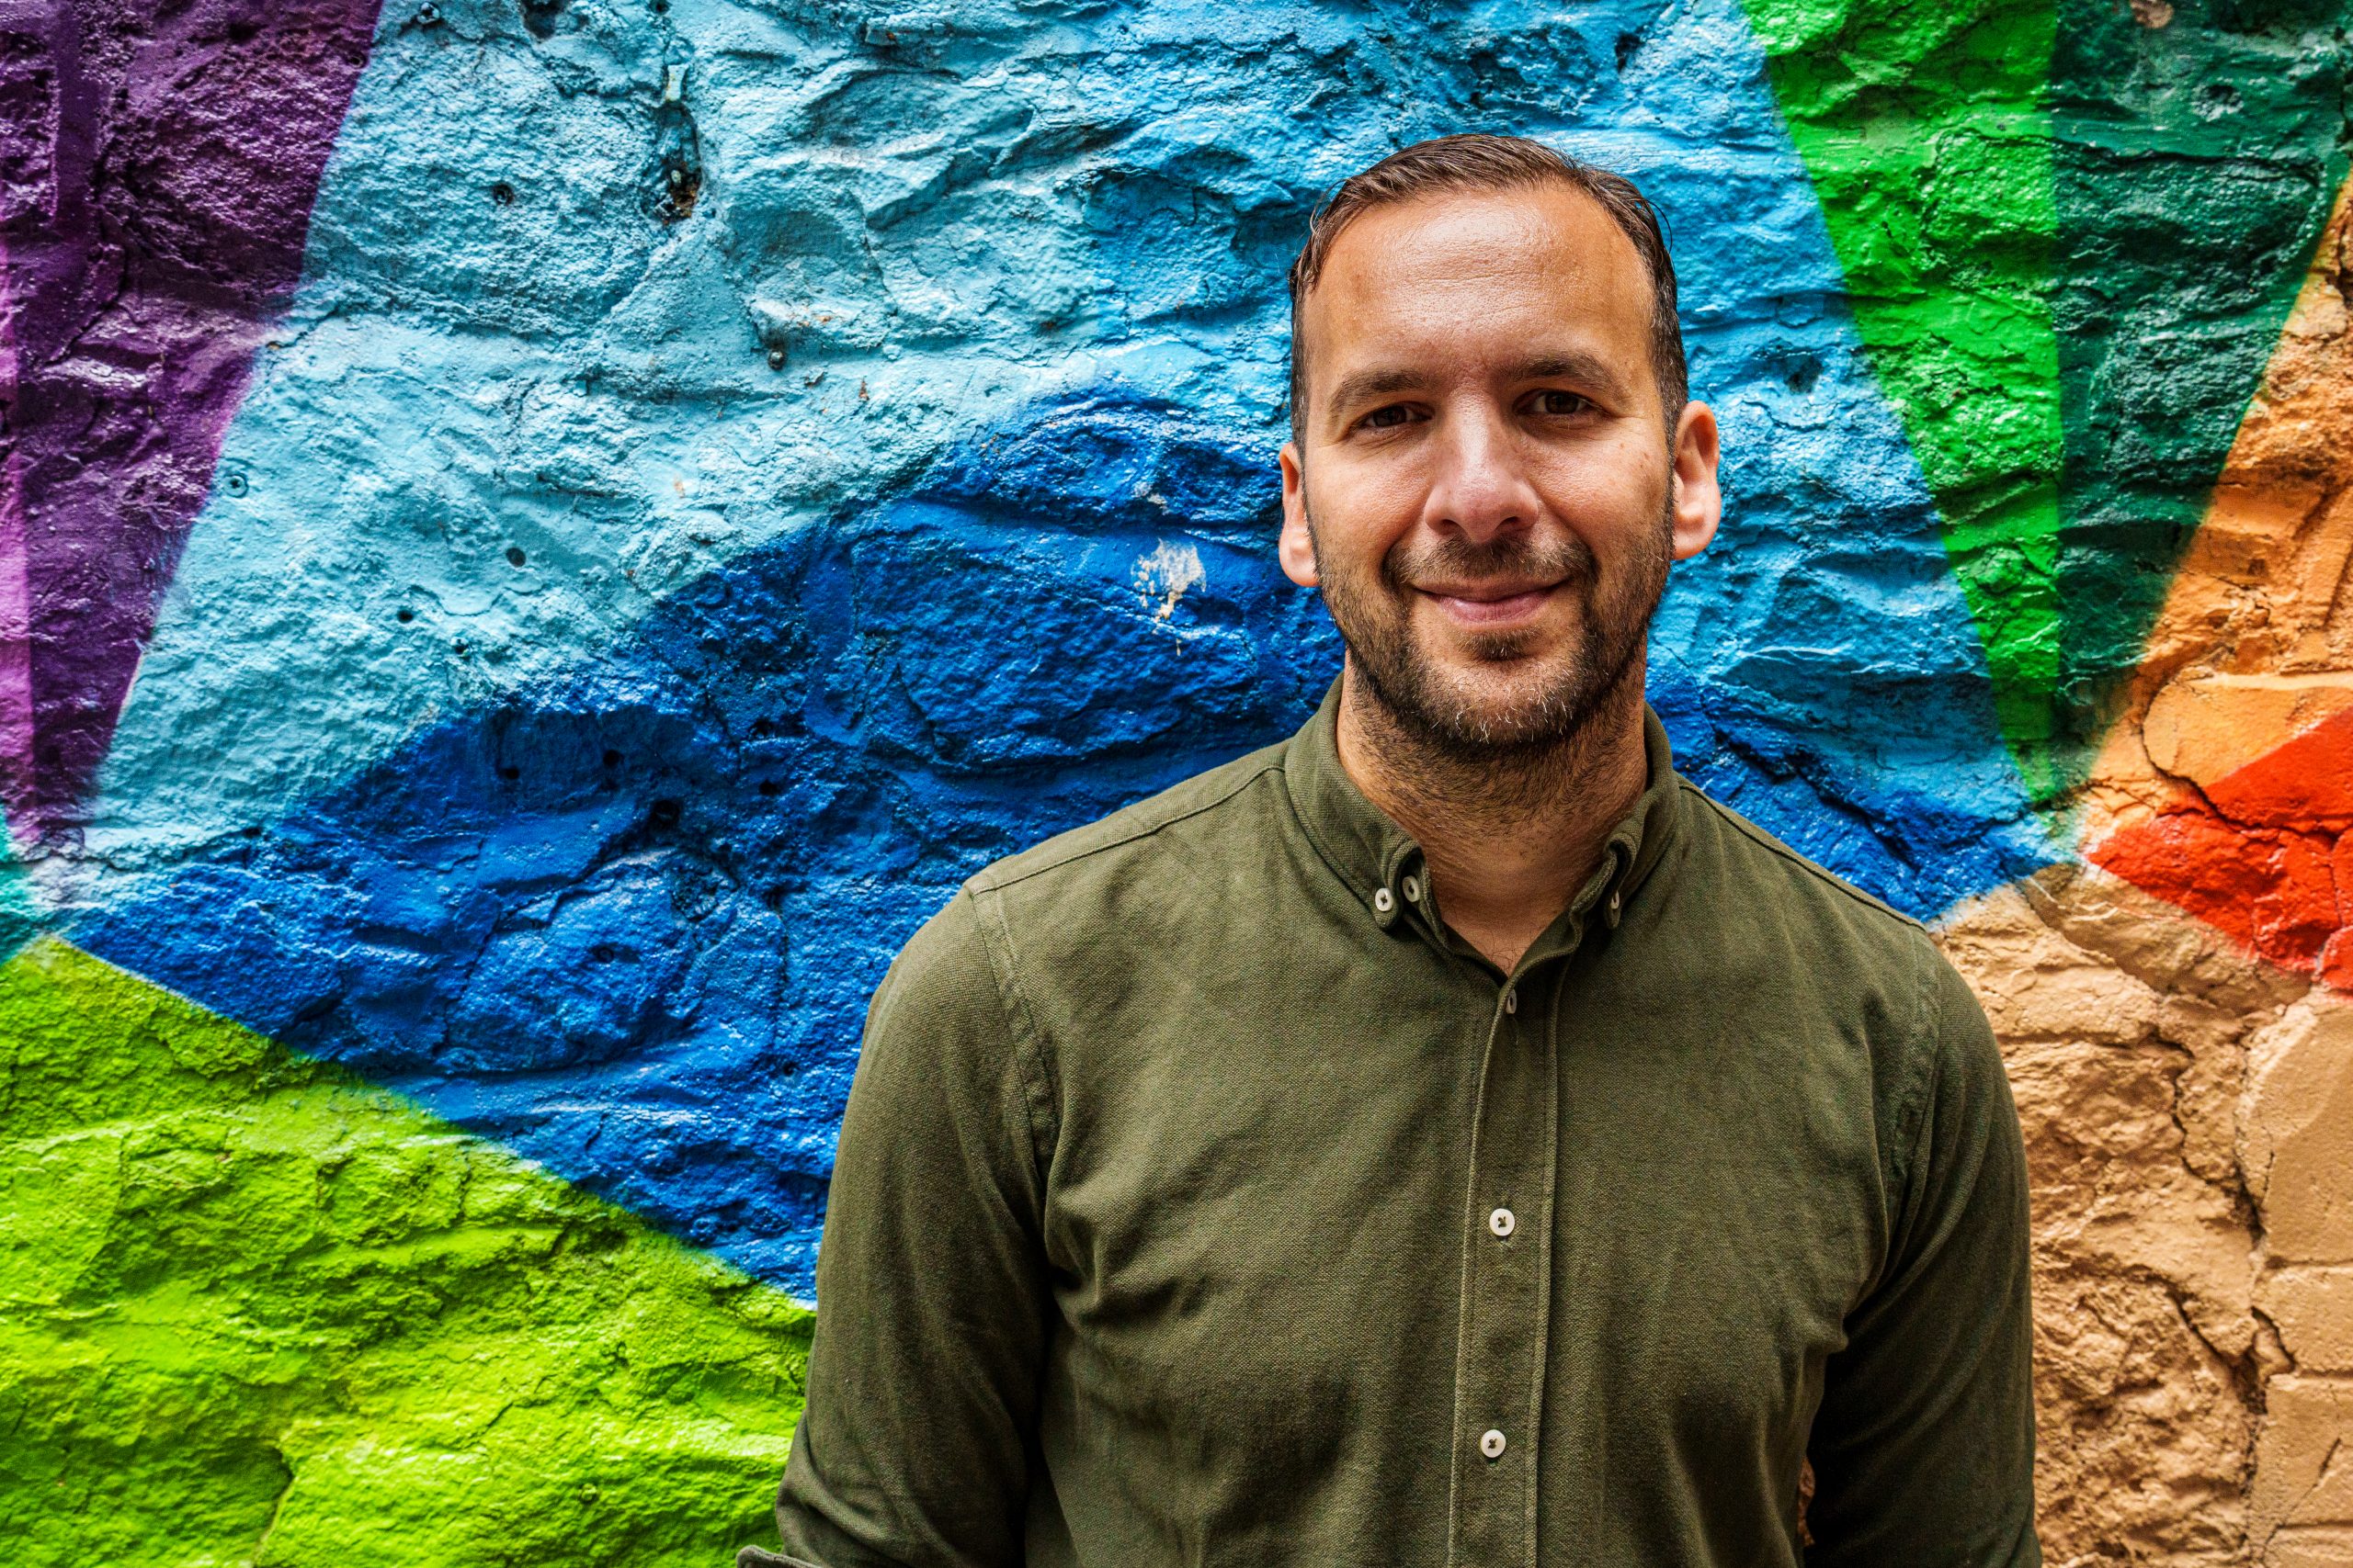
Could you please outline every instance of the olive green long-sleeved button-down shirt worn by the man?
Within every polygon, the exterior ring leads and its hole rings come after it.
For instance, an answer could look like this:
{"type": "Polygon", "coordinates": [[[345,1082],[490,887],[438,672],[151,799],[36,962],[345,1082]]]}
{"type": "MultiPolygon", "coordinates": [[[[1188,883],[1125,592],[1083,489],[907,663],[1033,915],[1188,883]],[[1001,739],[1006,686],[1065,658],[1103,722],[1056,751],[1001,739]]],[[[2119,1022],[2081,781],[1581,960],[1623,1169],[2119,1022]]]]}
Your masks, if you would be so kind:
{"type": "Polygon", "coordinates": [[[1334,715],[899,954],[744,1561],[2038,1563],[2024,1150],[1927,933],[1652,715],[1506,976],[1334,715]]]}

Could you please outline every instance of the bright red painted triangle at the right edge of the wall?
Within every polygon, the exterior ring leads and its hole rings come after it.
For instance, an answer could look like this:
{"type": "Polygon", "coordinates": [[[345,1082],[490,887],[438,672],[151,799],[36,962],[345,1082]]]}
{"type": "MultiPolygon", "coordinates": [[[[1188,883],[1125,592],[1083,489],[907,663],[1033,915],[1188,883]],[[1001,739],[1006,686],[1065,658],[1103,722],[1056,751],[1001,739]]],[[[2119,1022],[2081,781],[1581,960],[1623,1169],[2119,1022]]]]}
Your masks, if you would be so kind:
{"type": "Polygon", "coordinates": [[[2282,969],[2353,990],[2353,712],[2085,856],[2282,969]]]}

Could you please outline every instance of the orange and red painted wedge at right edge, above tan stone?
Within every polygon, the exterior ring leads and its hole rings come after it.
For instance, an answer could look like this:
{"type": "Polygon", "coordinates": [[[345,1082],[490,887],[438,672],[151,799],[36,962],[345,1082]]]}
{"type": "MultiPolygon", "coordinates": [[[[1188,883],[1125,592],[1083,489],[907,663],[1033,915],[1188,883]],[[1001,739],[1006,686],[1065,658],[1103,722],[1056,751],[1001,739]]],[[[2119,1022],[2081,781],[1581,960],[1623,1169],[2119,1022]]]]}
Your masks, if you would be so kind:
{"type": "Polygon", "coordinates": [[[2085,811],[2087,856],[2353,987],[2353,205],[2339,197],[2085,811]],[[2339,872],[2344,867],[2344,872],[2339,872]]]}

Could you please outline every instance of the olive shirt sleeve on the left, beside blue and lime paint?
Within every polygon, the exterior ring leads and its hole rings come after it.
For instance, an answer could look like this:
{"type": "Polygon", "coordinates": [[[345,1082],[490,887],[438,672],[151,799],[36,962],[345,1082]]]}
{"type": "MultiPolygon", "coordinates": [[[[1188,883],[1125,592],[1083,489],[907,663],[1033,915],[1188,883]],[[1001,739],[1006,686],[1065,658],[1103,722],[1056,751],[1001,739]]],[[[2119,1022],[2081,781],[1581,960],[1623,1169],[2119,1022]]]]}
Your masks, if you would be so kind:
{"type": "MultiPolygon", "coordinates": [[[[826,1201],[786,1563],[1019,1563],[1047,1295],[1045,1100],[967,891],[892,964],[826,1201]]],[[[774,1563],[746,1552],[744,1563],[774,1563]]]]}

